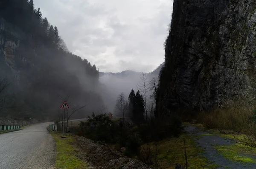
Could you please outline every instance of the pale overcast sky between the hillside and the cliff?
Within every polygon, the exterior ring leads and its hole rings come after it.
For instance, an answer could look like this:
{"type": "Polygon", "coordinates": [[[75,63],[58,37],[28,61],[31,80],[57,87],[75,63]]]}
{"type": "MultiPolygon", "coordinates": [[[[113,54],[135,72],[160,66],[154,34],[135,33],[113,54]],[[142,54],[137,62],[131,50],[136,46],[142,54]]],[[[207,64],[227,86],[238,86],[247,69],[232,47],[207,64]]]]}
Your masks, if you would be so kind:
{"type": "Polygon", "coordinates": [[[172,0],[34,0],[68,49],[103,72],[149,72],[164,61],[172,0]]]}

